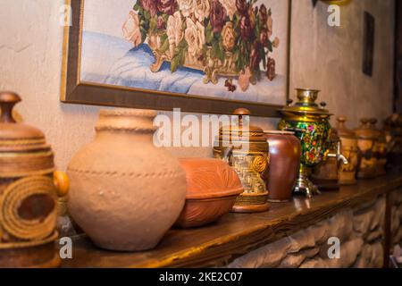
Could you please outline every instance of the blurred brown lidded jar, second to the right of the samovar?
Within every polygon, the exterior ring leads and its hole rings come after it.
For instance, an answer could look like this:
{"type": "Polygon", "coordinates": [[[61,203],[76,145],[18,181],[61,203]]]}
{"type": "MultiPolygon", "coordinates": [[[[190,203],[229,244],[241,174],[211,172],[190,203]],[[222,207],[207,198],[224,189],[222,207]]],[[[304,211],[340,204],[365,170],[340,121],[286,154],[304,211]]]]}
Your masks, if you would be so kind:
{"type": "Polygon", "coordinates": [[[372,179],[377,175],[377,157],[374,155],[374,147],[378,140],[378,131],[373,130],[370,119],[363,118],[360,122],[360,127],[355,130],[357,146],[361,152],[357,178],[372,179]]]}

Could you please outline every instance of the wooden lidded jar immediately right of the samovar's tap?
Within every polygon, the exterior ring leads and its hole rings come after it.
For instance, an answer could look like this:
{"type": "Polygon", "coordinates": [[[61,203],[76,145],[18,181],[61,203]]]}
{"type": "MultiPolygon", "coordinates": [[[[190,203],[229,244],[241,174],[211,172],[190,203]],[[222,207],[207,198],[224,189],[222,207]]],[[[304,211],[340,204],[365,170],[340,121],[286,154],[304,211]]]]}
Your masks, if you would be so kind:
{"type": "Polygon", "coordinates": [[[341,141],[341,153],[348,159],[348,164],[339,165],[339,185],[356,184],[356,171],[360,161],[360,150],[357,146],[357,137],[352,130],[346,126],[347,118],[337,118],[337,131],[341,141]]]}

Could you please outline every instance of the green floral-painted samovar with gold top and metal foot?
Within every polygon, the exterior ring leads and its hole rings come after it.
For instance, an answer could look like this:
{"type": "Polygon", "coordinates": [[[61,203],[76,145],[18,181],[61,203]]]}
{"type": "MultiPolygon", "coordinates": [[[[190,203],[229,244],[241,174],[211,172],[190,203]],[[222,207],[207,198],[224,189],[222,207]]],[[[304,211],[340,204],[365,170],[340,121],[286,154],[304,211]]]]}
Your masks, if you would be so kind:
{"type": "Polygon", "coordinates": [[[302,157],[300,170],[295,183],[294,193],[305,194],[311,198],[319,190],[310,181],[312,169],[326,159],[331,147],[331,114],[325,109],[325,103],[315,104],[319,90],[297,88],[298,102],[281,109],[283,118],[280,130],[292,130],[300,139],[302,157]]]}

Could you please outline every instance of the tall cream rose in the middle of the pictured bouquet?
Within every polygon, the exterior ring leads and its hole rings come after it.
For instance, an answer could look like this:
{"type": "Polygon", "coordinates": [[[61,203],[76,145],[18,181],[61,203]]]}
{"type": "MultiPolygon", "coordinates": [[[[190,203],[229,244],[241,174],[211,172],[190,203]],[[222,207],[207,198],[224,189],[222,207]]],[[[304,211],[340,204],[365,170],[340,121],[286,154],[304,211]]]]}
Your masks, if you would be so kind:
{"type": "Polygon", "coordinates": [[[186,19],[187,28],[184,32],[184,38],[188,44],[188,55],[193,62],[197,62],[205,45],[205,28],[199,21],[196,23],[191,19],[186,19]]]}

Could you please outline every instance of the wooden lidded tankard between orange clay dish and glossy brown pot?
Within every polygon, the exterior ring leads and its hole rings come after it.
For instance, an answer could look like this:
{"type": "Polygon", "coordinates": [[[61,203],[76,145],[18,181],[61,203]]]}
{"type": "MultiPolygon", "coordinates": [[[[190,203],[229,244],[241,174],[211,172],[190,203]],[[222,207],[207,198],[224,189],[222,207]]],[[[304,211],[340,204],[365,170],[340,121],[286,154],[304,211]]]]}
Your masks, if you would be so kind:
{"type": "Polygon", "coordinates": [[[221,128],[214,143],[214,156],[235,169],[244,187],[233,212],[264,212],[269,209],[268,191],[262,179],[269,164],[268,142],[261,128],[249,125],[247,109],[239,108],[234,115],[239,117],[239,123],[221,128]]]}

